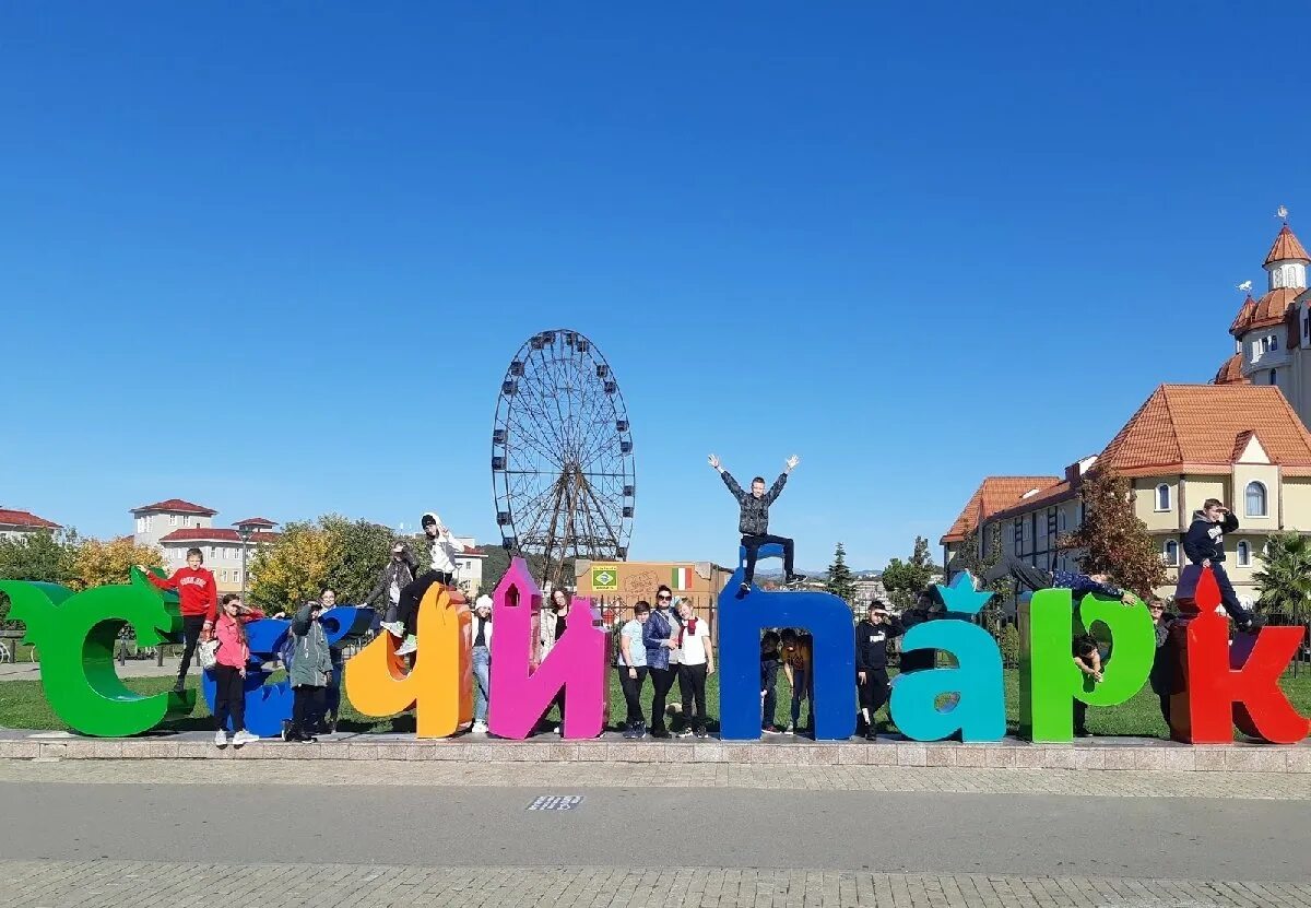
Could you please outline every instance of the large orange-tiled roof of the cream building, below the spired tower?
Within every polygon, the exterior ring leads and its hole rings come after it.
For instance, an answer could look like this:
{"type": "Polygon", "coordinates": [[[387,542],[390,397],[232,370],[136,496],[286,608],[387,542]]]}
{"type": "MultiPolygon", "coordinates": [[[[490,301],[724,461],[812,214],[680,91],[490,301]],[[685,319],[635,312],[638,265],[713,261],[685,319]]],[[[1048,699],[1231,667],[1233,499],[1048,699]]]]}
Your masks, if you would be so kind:
{"type": "Polygon", "coordinates": [[[1311,433],[1269,384],[1162,384],[1112,438],[1097,467],[1126,475],[1228,466],[1255,432],[1273,463],[1311,468],[1311,433]]]}

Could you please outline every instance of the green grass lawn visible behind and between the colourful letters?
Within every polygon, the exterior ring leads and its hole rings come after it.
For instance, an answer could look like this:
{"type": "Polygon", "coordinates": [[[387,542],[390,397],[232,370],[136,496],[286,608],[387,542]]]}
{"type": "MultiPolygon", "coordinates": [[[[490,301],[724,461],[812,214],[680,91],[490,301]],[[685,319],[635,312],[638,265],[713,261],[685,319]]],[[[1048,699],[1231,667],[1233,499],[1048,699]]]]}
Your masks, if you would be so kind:
{"type": "MultiPolygon", "coordinates": [[[[274,676],[275,678],[279,676],[274,676]]],[[[161,693],[172,686],[172,678],[128,678],[126,684],[132,690],[146,694],[161,693]]],[[[190,686],[195,686],[197,680],[193,673],[190,686]]],[[[1311,715],[1311,674],[1293,678],[1285,676],[1283,690],[1289,699],[1303,715],[1311,715]]],[[[676,694],[678,688],[674,689],[676,694]]],[[[708,709],[712,716],[718,716],[718,676],[711,676],[707,684],[708,709]]],[[[1006,698],[1007,723],[1013,733],[1017,723],[1016,707],[1019,703],[1019,674],[1013,669],[1006,672],[1006,698]]],[[[649,714],[652,699],[650,682],[645,685],[642,693],[642,706],[649,714]]],[[[776,722],[781,728],[787,724],[791,693],[787,680],[779,677],[779,710],[776,722]]],[[[610,715],[614,722],[623,722],[624,697],[619,689],[619,678],[615,671],[610,671],[610,715]]],[[[895,731],[886,719],[886,710],[881,714],[880,730],[895,731]]],[[[551,716],[555,716],[552,711],[551,716]]],[[[802,707],[805,716],[805,707],[802,707]]],[[[805,722],[805,718],[802,718],[805,722]]],[[[717,731],[718,723],[711,722],[711,730],[717,731]]],[[[3,681],[0,682],[0,727],[7,728],[50,728],[64,730],[66,726],[51,711],[41,691],[39,681],[3,681]]],[[[181,719],[172,726],[177,730],[210,730],[214,727],[205,699],[198,698],[195,712],[186,719],[181,719]]],[[[363,716],[347,703],[342,711],[341,727],[343,731],[387,732],[387,731],[413,731],[413,716],[401,715],[395,719],[374,719],[363,716]]],[[[1145,735],[1150,737],[1163,737],[1165,723],[1160,718],[1156,697],[1151,689],[1143,688],[1137,697],[1127,703],[1112,707],[1092,707],[1088,710],[1088,728],[1097,735],[1145,735]]]]}

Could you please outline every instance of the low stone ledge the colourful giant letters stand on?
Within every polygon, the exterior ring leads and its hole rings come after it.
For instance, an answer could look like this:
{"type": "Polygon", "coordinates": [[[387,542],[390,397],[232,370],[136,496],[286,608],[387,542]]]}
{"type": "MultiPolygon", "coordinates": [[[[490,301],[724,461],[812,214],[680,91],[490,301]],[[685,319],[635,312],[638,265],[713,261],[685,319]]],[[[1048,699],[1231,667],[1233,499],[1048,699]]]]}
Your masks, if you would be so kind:
{"type": "Polygon", "coordinates": [[[1070,769],[1311,773],[1311,741],[1297,745],[1186,745],[1145,737],[1099,737],[1078,744],[1029,744],[1007,737],[990,744],[907,741],[812,741],[770,736],[760,741],[676,739],[624,740],[607,732],[587,741],[538,735],[506,741],[460,735],[417,741],[413,735],[337,733],[315,744],[261,740],[240,749],[214,745],[214,732],[156,732],[132,739],[83,737],[68,732],[0,731],[0,758],[10,760],[405,760],[472,762],[738,764],[770,766],[964,766],[978,769],[1070,769]]]}

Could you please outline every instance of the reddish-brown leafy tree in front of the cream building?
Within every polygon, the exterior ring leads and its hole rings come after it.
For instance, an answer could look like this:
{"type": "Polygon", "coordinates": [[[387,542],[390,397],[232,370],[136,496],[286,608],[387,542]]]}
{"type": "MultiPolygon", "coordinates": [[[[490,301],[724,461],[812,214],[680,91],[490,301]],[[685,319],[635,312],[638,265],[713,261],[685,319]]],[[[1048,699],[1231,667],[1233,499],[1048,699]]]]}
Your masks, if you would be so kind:
{"type": "Polygon", "coordinates": [[[1147,525],[1134,514],[1131,487],[1113,470],[1097,470],[1079,489],[1083,524],[1057,542],[1078,548],[1084,573],[1109,573],[1118,585],[1150,596],[1165,583],[1165,564],[1147,525]]]}

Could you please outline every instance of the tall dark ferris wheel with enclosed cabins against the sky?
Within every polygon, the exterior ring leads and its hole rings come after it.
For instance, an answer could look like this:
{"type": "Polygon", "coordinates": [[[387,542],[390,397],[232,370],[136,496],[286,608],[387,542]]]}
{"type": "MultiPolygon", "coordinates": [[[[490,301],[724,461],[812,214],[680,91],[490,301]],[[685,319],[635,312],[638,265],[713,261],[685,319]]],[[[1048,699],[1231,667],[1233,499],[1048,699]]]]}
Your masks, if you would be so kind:
{"type": "Polygon", "coordinates": [[[534,335],[510,361],[492,430],[492,488],[502,545],[538,555],[540,580],[558,585],[568,559],[628,558],[628,411],[606,357],[577,331],[534,335]]]}

